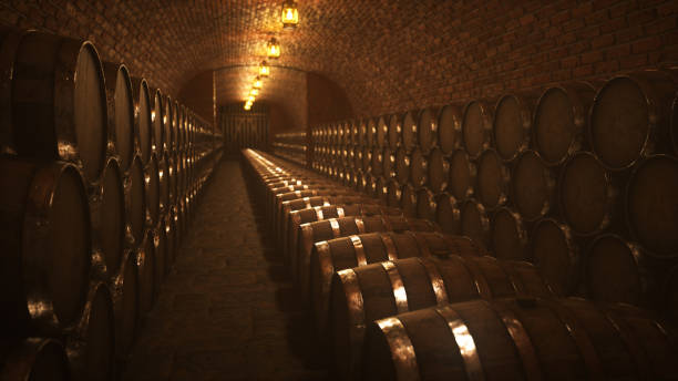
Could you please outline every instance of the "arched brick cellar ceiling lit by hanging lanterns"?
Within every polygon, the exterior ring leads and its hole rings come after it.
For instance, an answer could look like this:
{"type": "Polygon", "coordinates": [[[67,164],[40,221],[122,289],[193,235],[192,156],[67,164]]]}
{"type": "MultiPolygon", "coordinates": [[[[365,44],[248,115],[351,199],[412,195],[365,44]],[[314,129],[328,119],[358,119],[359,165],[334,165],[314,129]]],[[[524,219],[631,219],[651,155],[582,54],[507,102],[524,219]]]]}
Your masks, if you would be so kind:
{"type": "MultiPolygon", "coordinates": [[[[281,30],[280,3],[0,0],[0,20],[91,39],[105,60],[174,95],[205,70],[236,65],[219,86],[224,101],[242,100],[251,80],[242,65],[258,64],[276,35],[276,64],[336,82],[358,115],[678,61],[672,0],[298,0],[295,31],[281,30]]],[[[282,96],[274,94],[261,99],[282,96]]]]}

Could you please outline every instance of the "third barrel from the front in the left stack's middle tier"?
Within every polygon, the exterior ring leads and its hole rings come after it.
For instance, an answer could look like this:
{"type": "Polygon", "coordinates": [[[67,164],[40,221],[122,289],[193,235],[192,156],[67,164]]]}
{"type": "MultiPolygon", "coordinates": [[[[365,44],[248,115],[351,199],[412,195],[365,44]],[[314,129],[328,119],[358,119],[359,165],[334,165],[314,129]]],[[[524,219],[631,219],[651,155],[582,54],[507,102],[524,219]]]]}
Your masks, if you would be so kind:
{"type": "Polygon", "coordinates": [[[146,224],[146,177],[140,155],[135,155],[125,179],[125,216],[134,245],[140,245],[144,238],[146,224]]]}

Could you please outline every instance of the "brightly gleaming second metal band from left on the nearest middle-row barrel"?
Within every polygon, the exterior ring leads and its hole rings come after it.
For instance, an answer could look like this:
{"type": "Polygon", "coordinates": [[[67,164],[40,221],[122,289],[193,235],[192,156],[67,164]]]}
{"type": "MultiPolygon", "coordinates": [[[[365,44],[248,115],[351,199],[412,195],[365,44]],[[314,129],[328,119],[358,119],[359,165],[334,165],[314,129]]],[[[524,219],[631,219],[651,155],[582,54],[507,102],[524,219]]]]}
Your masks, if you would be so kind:
{"type": "Polygon", "coordinates": [[[436,308],[435,312],[445,320],[450,331],[452,331],[456,347],[459,347],[459,353],[464,362],[468,379],[470,381],[484,381],[483,365],[469,327],[450,306],[436,308]]]}

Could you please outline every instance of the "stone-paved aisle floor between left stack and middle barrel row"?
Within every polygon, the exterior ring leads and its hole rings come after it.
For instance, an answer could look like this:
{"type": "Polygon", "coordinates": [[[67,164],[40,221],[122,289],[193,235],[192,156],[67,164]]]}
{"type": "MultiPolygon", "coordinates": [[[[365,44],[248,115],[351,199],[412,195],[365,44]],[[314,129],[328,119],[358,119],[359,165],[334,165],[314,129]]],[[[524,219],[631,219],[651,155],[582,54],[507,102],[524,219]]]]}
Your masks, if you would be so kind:
{"type": "Polygon", "coordinates": [[[325,380],[237,161],[206,186],[123,380],[325,380]]]}

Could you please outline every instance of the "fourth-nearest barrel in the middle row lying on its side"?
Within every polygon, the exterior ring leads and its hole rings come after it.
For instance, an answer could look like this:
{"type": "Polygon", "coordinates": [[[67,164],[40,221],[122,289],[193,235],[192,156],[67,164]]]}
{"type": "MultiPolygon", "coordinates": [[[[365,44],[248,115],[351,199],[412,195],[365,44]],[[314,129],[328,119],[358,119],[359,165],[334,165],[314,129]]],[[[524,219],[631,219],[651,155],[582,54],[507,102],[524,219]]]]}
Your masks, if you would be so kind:
{"type": "Polygon", "coordinates": [[[407,218],[402,215],[396,215],[394,213],[398,210],[394,208],[387,209],[387,212],[389,214],[329,218],[304,224],[301,226],[301,230],[299,231],[300,251],[297,255],[297,260],[299,265],[299,289],[304,302],[309,301],[311,270],[318,267],[317,254],[314,254],[316,250],[315,244],[364,233],[405,230],[433,231],[438,228],[424,219],[407,218]]]}

